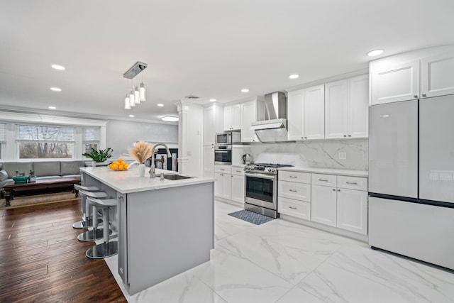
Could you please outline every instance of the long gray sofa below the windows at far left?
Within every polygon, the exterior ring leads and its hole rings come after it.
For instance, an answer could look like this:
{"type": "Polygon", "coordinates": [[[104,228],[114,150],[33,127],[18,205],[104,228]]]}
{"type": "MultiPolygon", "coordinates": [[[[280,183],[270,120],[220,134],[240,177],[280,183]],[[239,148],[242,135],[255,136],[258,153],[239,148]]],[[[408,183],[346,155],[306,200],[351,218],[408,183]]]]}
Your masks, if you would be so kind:
{"type": "Polygon", "coordinates": [[[2,162],[0,163],[0,196],[3,197],[3,187],[13,183],[12,177],[24,172],[26,175],[33,170],[36,180],[44,178],[65,178],[78,177],[80,179],[79,167],[85,166],[85,161],[32,161],[32,162],[2,162]]]}

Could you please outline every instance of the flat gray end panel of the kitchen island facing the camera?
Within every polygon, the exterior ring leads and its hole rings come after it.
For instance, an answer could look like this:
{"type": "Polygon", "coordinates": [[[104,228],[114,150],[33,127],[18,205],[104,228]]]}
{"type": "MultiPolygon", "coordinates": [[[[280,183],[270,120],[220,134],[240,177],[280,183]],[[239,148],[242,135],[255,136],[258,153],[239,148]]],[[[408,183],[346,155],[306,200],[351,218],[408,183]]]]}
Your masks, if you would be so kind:
{"type": "Polygon", "coordinates": [[[214,182],[127,197],[129,293],[209,261],[214,248],[214,182]]]}

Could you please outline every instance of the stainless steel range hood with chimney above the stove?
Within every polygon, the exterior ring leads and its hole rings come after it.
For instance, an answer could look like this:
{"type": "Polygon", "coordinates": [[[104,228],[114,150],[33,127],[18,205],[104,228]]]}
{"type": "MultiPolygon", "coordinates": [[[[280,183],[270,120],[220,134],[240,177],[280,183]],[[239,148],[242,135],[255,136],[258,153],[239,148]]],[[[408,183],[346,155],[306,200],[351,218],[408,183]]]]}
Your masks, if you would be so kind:
{"type": "Polygon", "coordinates": [[[287,141],[287,98],[283,92],[265,94],[265,121],[253,122],[255,131],[262,142],[287,141]]]}

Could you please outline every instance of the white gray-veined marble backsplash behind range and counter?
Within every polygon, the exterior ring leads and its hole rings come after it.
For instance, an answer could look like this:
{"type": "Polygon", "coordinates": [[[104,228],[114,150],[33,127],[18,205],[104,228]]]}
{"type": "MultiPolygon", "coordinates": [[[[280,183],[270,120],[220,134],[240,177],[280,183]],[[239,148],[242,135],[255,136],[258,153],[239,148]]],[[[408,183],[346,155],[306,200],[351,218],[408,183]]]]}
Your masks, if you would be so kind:
{"type": "Polygon", "coordinates": [[[369,141],[367,138],[297,143],[257,143],[250,145],[250,153],[253,155],[255,163],[279,163],[299,167],[344,170],[368,170],[369,168],[369,141]],[[341,157],[339,157],[339,153],[341,153],[341,157]],[[345,157],[343,157],[344,155],[345,157]]]}

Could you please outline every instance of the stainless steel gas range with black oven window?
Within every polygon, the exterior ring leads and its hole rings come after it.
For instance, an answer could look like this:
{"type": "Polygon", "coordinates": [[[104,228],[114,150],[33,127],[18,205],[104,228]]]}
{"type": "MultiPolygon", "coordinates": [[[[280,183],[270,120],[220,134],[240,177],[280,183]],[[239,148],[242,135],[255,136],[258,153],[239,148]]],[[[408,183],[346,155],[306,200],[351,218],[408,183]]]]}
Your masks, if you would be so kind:
{"type": "Polygon", "coordinates": [[[246,165],[245,209],[277,218],[277,168],[292,165],[255,163],[246,165]]]}

